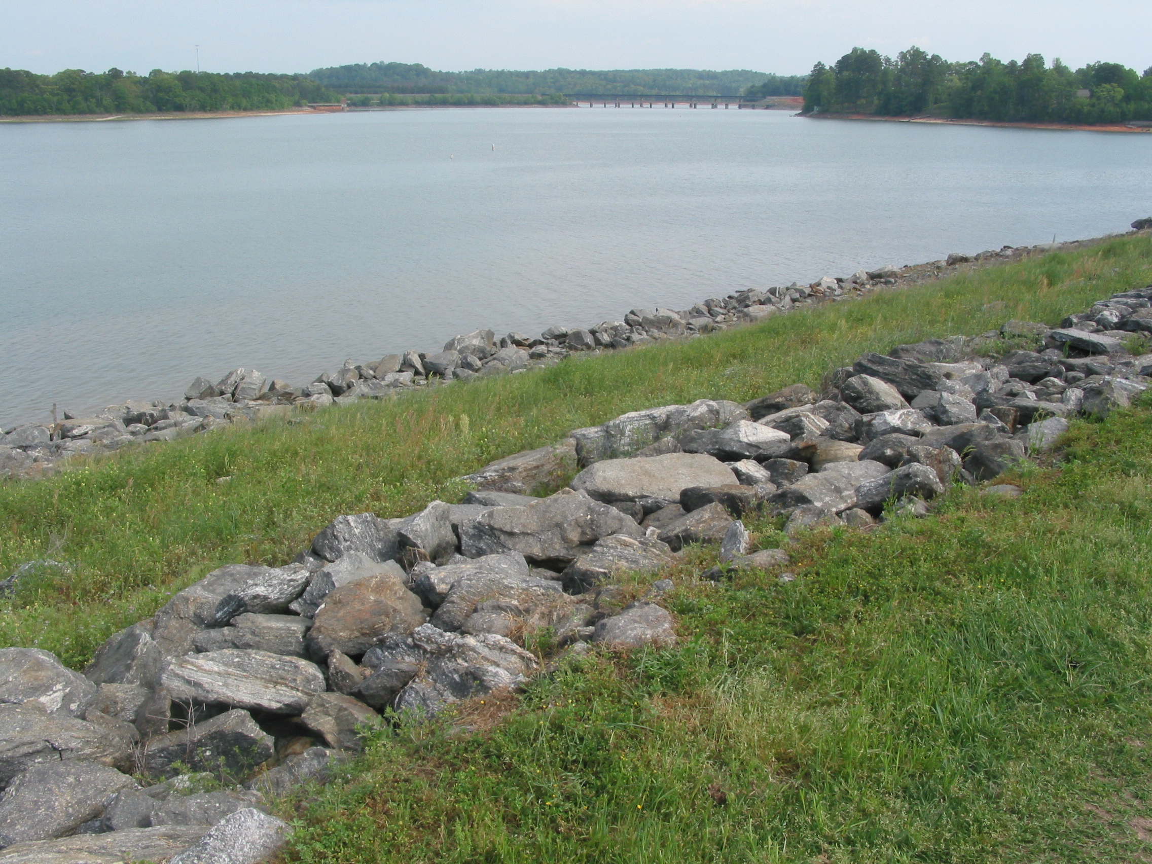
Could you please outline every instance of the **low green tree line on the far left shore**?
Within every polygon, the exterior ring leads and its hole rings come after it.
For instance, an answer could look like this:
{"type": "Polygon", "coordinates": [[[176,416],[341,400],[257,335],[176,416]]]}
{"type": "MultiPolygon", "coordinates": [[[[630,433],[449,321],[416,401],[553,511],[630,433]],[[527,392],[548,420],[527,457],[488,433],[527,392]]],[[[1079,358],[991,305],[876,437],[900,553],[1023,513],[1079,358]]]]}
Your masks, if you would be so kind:
{"type": "Polygon", "coordinates": [[[0,69],[0,114],[151,114],[169,111],[275,111],[340,96],[304,75],[66,69],[36,75],[0,69]]]}

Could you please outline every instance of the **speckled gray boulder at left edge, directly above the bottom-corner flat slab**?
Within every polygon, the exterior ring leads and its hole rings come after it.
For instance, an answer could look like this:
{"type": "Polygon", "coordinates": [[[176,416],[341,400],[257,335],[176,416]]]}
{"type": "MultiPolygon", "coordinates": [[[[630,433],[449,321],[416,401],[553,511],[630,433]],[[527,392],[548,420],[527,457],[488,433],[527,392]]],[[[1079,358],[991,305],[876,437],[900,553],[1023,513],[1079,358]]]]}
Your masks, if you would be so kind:
{"type": "Polygon", "coordinates": [[[138,788],[106,765],[76,760],[36,765],[13,778],[0,796],[0,848],[71,834],[104,812],[121,789],[138,788]]]}

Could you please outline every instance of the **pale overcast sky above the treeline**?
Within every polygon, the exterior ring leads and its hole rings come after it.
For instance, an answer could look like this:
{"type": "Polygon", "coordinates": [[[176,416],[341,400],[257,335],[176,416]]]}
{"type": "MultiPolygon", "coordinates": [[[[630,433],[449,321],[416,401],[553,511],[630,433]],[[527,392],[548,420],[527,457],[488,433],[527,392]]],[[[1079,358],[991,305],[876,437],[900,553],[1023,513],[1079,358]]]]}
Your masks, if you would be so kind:
{"type": "Polygon", "coordinates": [[[0,0],[0,68],[679,67],[806,73],[854,45],[1152,66],[1152,0],[0,0]]]}

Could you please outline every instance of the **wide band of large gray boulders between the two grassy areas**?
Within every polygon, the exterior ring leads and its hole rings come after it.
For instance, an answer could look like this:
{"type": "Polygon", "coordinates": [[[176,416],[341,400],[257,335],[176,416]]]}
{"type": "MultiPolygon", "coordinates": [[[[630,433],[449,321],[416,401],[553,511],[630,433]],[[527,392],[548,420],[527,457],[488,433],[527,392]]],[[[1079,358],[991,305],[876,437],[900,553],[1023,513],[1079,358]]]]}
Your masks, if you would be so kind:
{"type": "Polygon", "coordinates": [[[270,802],[324,782],[366,729],[467,714],[547,674],[525,649],[545,628],[550,665],[673,645],[673,585],[657,577],[688,546],[715,545],[704,578],[796,578],[786,550],[750,547],[745,513],[779,516],[789,537],[870,530],[927,515],[953,484],[994,483],[1069,417],[1144,392],[1152,354],[1121,336],[1150,328],[1152,286],[1058,328],[1009,321],[865,354],[820,393],[635,411],[484,467],[462,503],[338,516],[290,563],[222,567],[83,674],[0,650],[0,864],[259,861],[289,832],[270,802]],[[574,470],[555,494],[528,494],[574,470]],[[629,602],[624,574],[657,581],[629,602]]]}

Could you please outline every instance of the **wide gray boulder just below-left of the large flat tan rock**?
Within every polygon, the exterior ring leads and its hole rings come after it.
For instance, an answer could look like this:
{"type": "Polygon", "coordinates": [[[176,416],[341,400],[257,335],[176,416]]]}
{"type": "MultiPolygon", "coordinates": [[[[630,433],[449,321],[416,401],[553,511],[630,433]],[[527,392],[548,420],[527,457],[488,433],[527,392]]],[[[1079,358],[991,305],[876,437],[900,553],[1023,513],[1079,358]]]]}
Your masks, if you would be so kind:
{"type": "Polygon", "coordinates": [[[644,532],[634,520],[588,493],[561,490],[526,507],[488,510],[467,529],[462,525],[460,533],[467,558],[520,552],[529,561],[567,564],[601,537],[644,532]]]}

